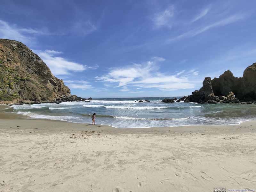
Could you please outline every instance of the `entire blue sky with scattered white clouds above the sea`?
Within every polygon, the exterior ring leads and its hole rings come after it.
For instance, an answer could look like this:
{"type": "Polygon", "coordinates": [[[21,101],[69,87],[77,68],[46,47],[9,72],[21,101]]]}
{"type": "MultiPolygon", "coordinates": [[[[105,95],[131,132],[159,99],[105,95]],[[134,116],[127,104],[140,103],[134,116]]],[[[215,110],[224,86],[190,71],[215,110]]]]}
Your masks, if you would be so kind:
{"type": "Polygon", "coordinates": [[[1,1],[0,38],[81,97],[184,96],[256,62],[256,1],[1,1]]]}

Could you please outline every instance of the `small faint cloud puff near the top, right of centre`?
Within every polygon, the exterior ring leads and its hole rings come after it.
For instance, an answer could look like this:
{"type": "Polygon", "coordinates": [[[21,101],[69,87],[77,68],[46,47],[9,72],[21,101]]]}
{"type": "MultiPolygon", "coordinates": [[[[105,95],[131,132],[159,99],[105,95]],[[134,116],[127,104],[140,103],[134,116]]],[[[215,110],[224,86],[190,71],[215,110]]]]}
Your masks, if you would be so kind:
{"type": "Polygon", "coordinates": [[[170,5],[162,12],[158,12],[154,15],[152,21],[154,23],[155,28],[160,27],[172,27],[171,18],[174,15],[174,6],[170,5]]]}

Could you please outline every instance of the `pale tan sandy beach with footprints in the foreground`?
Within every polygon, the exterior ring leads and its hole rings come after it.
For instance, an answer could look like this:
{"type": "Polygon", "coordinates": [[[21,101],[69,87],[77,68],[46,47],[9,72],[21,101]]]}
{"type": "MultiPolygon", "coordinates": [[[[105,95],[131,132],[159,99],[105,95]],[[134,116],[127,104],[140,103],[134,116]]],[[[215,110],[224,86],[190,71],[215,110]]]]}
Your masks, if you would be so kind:
{"type": "Polygon", "coordinates": [[[255,149],[255,121],[117,129],[0,113],[0,191],[253,190],[255,149]]]}

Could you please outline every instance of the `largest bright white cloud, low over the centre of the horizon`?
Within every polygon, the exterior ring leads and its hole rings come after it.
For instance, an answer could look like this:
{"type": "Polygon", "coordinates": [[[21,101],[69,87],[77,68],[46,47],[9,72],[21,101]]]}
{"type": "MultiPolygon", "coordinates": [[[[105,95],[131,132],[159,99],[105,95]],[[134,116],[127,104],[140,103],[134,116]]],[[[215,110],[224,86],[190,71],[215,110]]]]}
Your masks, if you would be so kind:
{"type": "MultiPolygon", "coordinates": [[[[161,60],[149,60],[141,64],[133,64],[121,68],[111,68],[108,74],[96,76],[96,81],[113,83],[120,91],[130,91],[130,87],[157,88],[163,91],[194,88],[188,77],[180,76],[185,70],[176,75],[165,75],[159,71],[161,60]]],[[[162,60],[164,61],[164,59],[162,60]]],[[[191,72],[187,72],[191,74],[191,72]]]]}

